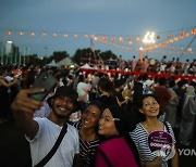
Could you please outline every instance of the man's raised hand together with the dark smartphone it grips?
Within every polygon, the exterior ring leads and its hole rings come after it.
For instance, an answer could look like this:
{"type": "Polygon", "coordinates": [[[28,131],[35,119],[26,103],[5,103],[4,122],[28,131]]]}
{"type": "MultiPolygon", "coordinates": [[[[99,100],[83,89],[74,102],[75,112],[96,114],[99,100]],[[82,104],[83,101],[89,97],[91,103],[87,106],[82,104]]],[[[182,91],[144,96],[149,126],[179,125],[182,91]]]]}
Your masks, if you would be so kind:
{"type": "Polygon", "coordinates": [[[42,100],[54,88],[58,80],[49,73],[41,73],[30,89],[21,90],[14,99],[13,112],[34,113],[42,105],[42,100]]]}

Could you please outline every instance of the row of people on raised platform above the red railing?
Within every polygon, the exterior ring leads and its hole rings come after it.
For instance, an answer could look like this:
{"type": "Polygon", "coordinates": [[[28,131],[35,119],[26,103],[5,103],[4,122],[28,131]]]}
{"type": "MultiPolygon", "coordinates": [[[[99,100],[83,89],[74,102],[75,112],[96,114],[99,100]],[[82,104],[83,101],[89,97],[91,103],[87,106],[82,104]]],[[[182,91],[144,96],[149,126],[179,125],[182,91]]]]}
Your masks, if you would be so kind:
{"type": "MultiPolygon", "coordinates": [[[[86,63],[90,64],[93,67],[98,69],[123,69],[128,72],[142,72],[142,73],[160,73],[160,74],[174,74],[174,75],[196,75],[196,60],[185,60],[185,62],[181,62],[179,57],[173,57],[169,60],[167,55],[164,55],[160,61],[144,56],[137,59],[135,55],[128,61],[122,60],[122,57],[114,60],[109,59],[105,64],[94,63],[86,61],[86,63]]],[[[82,62],[84,64],[84,62],[82,62]]]]}

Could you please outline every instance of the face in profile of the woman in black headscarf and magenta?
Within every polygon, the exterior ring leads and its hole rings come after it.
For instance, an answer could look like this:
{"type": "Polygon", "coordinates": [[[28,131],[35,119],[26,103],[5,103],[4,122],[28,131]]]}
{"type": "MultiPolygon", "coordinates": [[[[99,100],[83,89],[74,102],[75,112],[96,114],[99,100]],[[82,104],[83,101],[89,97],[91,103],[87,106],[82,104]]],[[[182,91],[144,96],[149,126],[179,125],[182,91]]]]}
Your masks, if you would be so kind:
{"type": "Polygon", "coordinates": [[[103,111],[101,118],[99,119],[98,133],[105,137],[112,137],[118,133],[114,125],[114,118],[109,108],[103,111]]]}

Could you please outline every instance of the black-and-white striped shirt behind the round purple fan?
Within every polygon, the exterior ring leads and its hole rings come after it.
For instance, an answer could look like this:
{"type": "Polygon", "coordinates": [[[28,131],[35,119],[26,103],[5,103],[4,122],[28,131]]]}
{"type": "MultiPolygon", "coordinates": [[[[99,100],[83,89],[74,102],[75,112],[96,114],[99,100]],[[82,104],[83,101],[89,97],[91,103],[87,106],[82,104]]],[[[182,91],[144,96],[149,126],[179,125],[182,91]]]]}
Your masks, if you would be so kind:
{"type": "MultiPolygon", "coordinates": [[[[167,127],[164,126],[164,131],[171,134],[173,143],[175,143],[176,141],[171,125],[168,121],[166,124],[168,126],[168,130],[167,127]]],[[[136,128],[132,132],[130,132],[130,134],[138,150],[139,157],[142,160],[150,162],[157,157],[157,155],[155,155],[148,146],[149,132],[143,127],[140,123],[136,125],[136,128]]],[[[168,162],[164,159],[164,157],[163,157],[162,167],[168,167],[168,162]]]]}

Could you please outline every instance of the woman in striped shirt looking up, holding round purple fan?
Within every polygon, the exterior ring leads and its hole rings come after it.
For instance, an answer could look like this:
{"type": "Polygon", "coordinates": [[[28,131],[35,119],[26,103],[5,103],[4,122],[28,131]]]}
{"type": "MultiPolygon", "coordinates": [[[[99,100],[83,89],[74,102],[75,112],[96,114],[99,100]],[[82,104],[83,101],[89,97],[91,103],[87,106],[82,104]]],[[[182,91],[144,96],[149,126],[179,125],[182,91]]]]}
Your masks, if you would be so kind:
{"type": "Polygon", "coordinates": [[[137,102],[136,128],[130,133],[139,153],[143,167],[177,167],[175,138],[171,125],[158,119],[160,105],[152,94],[137,102]]]}

